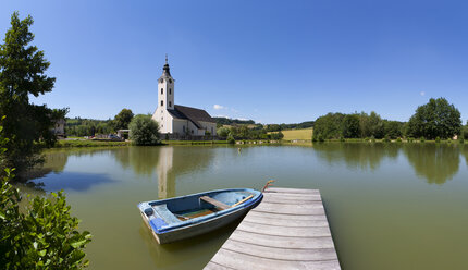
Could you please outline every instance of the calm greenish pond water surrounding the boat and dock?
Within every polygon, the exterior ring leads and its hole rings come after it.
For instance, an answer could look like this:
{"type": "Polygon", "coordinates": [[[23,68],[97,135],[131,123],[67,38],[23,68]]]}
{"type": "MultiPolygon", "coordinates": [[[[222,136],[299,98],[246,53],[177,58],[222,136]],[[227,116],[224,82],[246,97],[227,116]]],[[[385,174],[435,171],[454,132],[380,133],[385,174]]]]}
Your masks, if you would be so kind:
{"type": "Polygon", "coordinates": [[[236,224],[160,246],[136,205],[270,179],[320,189],[343,269],[468,269],[467,163],[456,144],[73,149],[33,182],[67,193],[90,269],[201,269],[236,224]]]}

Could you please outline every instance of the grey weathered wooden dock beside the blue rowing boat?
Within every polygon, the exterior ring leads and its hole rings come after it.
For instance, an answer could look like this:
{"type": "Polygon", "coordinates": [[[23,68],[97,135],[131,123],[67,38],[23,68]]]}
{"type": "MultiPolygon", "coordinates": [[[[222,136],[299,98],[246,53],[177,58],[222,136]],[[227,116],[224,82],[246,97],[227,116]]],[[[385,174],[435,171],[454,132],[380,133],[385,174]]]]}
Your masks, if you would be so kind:
{"type": "Polygon", "coordinates": [[[205,269],[341,269],[320,192],[269,187],[205,269]]]}

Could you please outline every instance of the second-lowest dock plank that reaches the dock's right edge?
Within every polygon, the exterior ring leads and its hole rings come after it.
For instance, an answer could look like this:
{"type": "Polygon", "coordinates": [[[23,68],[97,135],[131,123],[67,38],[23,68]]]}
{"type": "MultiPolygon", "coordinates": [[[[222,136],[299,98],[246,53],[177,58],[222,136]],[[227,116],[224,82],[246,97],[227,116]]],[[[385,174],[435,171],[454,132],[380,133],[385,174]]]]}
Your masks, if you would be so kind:
{"type": "Polygon", "coordinates": [[[236,253],[246,253],[248,250],[248,254],[251,256],[278,260],[308,261],[337,259],[334,248],[286,249],[247,244],[245,242],[237,242],[233,240],[227,240],[223,245],[223,249],[236,253]]]}

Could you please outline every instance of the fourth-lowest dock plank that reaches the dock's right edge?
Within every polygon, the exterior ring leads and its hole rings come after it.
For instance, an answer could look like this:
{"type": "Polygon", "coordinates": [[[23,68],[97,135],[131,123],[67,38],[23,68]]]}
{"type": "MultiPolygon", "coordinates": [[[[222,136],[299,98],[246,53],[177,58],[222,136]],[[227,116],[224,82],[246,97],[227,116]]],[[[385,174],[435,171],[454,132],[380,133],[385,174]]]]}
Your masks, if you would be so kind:
{"type": "Polygon", "coordinates": [[[257,233],[257,234],[268,234],[278,236],[303,236],[303,237],[321,237],[331,236],[330,229],[328,226],[309,226],[309,228],[282,228],[274,225],[264,225],[257,223],[244,223],[237,226],[236,230],[257,233]]]}

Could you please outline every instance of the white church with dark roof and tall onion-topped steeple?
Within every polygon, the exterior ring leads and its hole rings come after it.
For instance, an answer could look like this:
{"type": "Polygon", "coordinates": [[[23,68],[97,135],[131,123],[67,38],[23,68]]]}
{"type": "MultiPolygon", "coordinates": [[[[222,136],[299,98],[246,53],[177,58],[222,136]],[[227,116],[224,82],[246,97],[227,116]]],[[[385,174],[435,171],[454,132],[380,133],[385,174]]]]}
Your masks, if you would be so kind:
{"type": "Polygon", "coordinates": [[[174,103],[174,78],[169,71],[168,58],[158,79],[158,108],[152,120],[159,123],[161,134],[175,136],[217,135],[217,123],[205,110],[174,103]]]}

